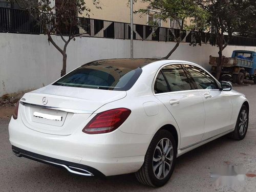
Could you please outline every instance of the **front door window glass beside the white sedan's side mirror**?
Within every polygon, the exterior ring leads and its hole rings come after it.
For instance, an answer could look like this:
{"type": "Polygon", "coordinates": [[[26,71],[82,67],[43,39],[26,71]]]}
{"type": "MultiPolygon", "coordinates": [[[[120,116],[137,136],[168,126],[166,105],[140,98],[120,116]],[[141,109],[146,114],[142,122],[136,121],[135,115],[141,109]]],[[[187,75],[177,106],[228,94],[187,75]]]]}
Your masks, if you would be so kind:
{"type": "Polygon", "coordinates": [[[190,65],[185,65],[191,77],[195,80],[198,89],[219,89],[218,84],[207,72],[190,65]]]}

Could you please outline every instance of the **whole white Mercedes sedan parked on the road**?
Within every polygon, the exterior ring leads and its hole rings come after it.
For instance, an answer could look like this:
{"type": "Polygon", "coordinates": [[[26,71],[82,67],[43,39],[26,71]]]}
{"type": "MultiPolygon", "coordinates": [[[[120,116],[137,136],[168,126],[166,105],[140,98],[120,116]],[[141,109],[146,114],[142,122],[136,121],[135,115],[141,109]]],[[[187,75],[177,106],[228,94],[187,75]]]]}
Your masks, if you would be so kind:
{"type": "Polygon", "coordinates": [[[182,154],[226,134],[243,139],[248,117],[245,95],[195,63],[109,59],[26,93],[9,134],[18,157],[162,186],[182,154]]]}

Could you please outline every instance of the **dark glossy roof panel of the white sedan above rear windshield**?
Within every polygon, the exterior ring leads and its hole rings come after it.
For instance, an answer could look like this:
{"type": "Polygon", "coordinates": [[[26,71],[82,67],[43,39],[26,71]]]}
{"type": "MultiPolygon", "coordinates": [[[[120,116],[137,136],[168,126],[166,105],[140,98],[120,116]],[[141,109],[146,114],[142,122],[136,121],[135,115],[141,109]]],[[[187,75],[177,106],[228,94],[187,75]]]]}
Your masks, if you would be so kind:
{"type": "Polygon", "coordinates": [[[161,58],[120,58],[120,59],[102,59],[95,60],[89,63],[84,64],[83,66],[92,66],[92,65],[103,65],[103,66],[112,66],[112,67],[123,67],[128,69],[137,69],[142,68],[152,62],[163,60],[161,58]]]}

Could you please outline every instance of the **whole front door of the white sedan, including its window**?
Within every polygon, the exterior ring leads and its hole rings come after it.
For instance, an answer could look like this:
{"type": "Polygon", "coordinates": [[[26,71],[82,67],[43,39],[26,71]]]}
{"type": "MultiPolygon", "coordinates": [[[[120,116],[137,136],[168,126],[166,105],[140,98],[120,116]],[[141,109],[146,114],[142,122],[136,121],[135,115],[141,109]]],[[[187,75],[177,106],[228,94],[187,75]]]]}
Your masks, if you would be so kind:
{"type": "Polygon", "coordinates": [[[188,70],[204,100],[205,134],[203,140],[232,129],[232,102],[228,93],[221,91],[220,83],[203,69],[193,65],[184,65],[184,67],[188,70]]]}

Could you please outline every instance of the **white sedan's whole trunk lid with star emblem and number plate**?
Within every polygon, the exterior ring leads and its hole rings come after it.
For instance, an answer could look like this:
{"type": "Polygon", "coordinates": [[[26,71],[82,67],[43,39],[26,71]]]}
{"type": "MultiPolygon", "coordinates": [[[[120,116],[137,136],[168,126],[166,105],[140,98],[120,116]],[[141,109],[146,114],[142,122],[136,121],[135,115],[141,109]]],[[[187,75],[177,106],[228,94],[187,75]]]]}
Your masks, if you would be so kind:
{"type": "Polygon", "coordinates": [[[27,93],[19,107],[29,128],[47,134],[71,135],[82,130],[102,105],[122,99],[125,91],[47,86],[27,93]]]}

